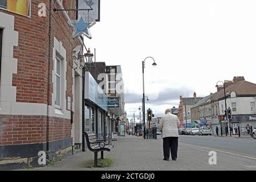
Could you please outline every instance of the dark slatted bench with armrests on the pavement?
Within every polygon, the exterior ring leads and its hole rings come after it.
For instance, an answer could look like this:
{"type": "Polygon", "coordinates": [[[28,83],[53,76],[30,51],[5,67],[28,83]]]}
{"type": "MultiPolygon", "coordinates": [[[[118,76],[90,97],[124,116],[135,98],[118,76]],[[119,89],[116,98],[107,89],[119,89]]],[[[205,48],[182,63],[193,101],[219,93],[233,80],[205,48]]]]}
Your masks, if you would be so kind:
{"type": "Polygon", "coordinates": [[[87,147],[90,151],[94,152],[94,166],[93,167],[101,167],[98,166],[98,152],[101,152],[101,159],[104,159],[104,151],[110,151],[114,146],[109,144],[110,141],[108,139],[98,140],[96,137],[96,133],[94,132],[83,132],[85,135],[87,147]]]}

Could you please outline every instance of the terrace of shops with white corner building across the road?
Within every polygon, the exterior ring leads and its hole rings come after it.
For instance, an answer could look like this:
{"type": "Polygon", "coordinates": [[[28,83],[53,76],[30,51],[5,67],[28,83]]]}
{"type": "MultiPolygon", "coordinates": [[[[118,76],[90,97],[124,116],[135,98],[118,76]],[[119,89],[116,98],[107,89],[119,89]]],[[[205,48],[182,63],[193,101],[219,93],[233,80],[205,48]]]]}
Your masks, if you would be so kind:
{"type": "MultiPolygon", "coordinates": [[[[225,80],[224,84],[226,108],[230,107],[232,109],[230,124],[233,129],[240,126],[243,133],[247,124],[256,127],[256,84],[245,81],[244,77],[234,77],[232,81],[225,80]]],[[[225,134],[225,127],[229,126],[229,121],[224,118],[224,85],[218,85],[216,93],[210,94],[197,102],[191,108],[191,114],[192,121],[199,122],[200,126],[212,127],[213,134],[215,133],[216,126],[218,126],[219,130],[222,127],[222,133],[225,134]]]]}

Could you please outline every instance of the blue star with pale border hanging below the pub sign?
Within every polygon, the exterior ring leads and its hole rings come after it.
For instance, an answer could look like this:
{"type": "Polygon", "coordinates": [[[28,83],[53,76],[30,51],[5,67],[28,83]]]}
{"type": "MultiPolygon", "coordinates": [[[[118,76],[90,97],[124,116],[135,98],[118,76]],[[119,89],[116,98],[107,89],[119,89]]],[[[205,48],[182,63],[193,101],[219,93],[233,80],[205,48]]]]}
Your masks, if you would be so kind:
{"type": "Polygon", "coordinates": [[[89,28],[92,27],[96,22],[85,22],[82,16],[79,16],[77,20],[69,20],[68,23],[75,28],[73,31],[73,38],[84,34],[87,38],[92,39],[92,35],[90,34],[89,28]]]}

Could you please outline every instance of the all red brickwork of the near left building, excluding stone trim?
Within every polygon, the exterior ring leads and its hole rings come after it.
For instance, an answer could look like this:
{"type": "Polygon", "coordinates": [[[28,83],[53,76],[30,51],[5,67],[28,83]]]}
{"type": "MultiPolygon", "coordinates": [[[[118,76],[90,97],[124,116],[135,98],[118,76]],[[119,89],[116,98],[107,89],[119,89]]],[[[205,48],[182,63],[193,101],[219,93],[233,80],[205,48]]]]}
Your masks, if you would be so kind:
{"type": "MultiPolygon", "coordinates": [[[[31,18],[13,14],[4,10],[3,13],[15,16],[14,30],[19,32],[18,47],[14,47],[14,57],[18,59],[18,71],[13,74],[13,86],[16,86],[16,102],[29,102],[52,105],[52,49],[53,40],[60,41],[67,51],[67,92],[66,98],[73,102],[73,59],[72,50],[81,43],[72,38],[73,28],[67,23],[64,12],[55,13],[51,9],[51,37],[49,39],[49,7],[51,1],[32,0],[31,18]],[[38,16],[38,3],[46,3],[47,16],[38,16]],[[48,51],[49,50],[49,51],[48,51]],[[48,73],[49,65],[49,73],[48,73]],[[49,84],[49,90],[48,89],[49,84]]],[[[72,1],[75,9],[76,1],[72,1]]],[[[71,0],[64,1],[71,6],[71,0]]],[[[58,6],[56,6],[59,9],[58,6]]],[[[71,19],[75,13],[69,12],[71,19]]],[[[31,115],[0,115],[0,145],[28,144],[65,139],[71,137],[70,119],[31,115]],[[47,130],[48,125],[48,131],[47,130]]]]}

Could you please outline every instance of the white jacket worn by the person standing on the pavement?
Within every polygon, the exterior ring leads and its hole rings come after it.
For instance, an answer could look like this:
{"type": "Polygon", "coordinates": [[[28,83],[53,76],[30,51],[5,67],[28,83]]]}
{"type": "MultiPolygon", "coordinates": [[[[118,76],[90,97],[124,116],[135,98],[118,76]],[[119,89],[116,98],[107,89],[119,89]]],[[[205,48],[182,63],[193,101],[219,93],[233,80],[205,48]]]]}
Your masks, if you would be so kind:
{"type": "Polygon", "coordinates": [[[159,129],[162,130],[162,137],[179,137],[179,118],[176,115],[167,113],[160,119],[159,129]]]}

